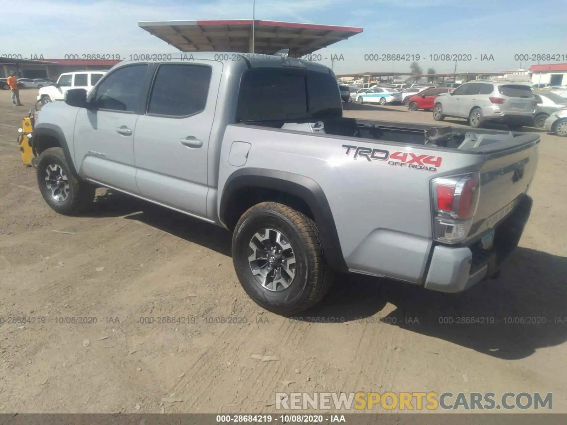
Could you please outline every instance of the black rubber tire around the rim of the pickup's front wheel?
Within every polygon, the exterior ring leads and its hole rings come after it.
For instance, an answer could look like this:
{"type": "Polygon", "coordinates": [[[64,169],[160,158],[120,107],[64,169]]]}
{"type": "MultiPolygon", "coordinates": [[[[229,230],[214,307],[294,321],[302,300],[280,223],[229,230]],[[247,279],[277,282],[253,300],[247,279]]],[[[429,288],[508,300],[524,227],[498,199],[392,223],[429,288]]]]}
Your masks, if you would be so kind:
{"type": "Polygon", "coordinates": [[[37,185],[41,192],[41,196],[49,207],[59,214],[78,215],[84,211],[94,200],[96,187],[85,181],[77,179],[71,173],[67,160],[60,147],[50,147],[41,152],[37,160],[37,185]],[[67,178],[69,185],[69,195],[65,201],[59,202],[52,197],[50,190],[45,182],[46,169],[49,165],[58,165],[67,178]]]}

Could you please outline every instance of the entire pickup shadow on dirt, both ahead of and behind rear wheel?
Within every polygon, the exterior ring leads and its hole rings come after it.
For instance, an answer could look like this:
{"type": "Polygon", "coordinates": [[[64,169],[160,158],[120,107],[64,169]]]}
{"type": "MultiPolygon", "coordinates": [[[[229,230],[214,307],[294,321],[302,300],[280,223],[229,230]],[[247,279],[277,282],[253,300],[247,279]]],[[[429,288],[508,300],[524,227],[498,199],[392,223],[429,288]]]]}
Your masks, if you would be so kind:
{"type": "MultiPolygon", "coordinates": [[[[231,256],[229,231],[120,193],[99,196],[86,215],[124,216],[231,256]]],[[[566,275],[567,258],[521,247],[507,260],[500,278],[460,294],[338,274],[321,303],[294,317],[337,326],[398,326],[493,357],[522,359],[567,341],[566,275]]]]}

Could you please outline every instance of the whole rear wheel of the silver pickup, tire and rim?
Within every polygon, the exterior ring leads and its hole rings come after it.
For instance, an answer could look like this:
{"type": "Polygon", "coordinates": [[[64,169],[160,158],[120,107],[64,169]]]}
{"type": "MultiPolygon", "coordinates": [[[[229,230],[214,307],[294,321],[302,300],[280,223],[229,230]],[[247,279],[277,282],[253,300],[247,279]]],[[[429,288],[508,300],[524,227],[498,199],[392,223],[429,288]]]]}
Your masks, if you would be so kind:
{"type": "Polygon", "coordinates": [[[279,315],[312,307],[331,287],[315,222],[281,203],[262,202],[242,215],[232,235],[232,262],[248,296],[279,315]]]}

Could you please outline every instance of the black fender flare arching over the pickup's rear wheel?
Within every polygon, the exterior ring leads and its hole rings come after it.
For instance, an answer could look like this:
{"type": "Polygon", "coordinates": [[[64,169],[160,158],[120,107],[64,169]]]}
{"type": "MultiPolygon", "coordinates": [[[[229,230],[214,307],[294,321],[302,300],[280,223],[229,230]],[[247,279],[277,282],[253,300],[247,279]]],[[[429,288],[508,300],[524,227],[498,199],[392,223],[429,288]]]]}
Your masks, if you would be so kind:
{"type": "Polygon", "coordinates": [[[314,215],[328,264],[334,269],[348,271],[331,207],[323,189],[315,180],[294,173],[265,168],[238,169],[227,179],[221,195],[219,219],[223,224],[226,223],[226,217],[236,192],[243,188],[278,190],[302,199],[314,215]]]}

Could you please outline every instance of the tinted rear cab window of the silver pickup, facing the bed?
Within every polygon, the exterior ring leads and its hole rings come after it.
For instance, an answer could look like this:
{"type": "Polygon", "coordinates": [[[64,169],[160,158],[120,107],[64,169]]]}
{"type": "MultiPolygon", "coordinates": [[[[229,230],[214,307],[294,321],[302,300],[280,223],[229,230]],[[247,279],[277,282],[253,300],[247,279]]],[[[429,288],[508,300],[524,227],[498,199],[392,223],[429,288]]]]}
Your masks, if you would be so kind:
{"type": "Polygon", "coordinates": [[[338,117],[342,117],[342,100],[331,74],[260,68],[245,71],[240,80],[237,122],[338,117]]]}

